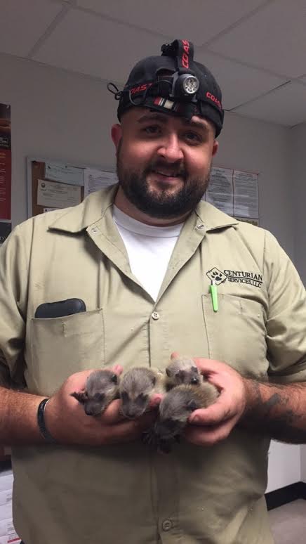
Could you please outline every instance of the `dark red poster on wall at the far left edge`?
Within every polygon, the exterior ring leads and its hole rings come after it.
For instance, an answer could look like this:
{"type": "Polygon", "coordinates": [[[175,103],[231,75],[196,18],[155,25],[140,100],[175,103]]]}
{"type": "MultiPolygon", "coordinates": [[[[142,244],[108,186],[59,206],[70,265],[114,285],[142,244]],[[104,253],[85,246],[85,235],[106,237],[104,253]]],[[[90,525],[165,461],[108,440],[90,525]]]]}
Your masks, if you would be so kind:
{"type": "Polygon", "coordinates": [[[0,219],[11,221],[11,106],[0,104],[0,219]]]}

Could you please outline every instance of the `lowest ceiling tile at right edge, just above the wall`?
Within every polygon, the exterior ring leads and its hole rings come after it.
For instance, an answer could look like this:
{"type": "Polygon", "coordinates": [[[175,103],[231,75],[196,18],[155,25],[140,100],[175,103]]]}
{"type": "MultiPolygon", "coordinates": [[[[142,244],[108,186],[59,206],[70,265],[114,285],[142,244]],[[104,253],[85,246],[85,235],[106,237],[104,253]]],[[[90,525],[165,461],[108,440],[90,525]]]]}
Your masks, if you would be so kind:
{"type": "Polygon", "coordinates": [[[234,110],[248,117],[293,127],[306,121],[306,86],[288,83],[272,93],[234,110]]]}

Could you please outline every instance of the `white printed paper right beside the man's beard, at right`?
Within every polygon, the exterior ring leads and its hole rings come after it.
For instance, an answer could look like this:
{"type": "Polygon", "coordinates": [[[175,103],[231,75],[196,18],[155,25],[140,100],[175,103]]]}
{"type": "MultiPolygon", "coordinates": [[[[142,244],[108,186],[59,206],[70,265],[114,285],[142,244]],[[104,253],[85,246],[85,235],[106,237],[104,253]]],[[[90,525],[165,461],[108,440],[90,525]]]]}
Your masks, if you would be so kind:
{"type": "Polygon", "coordinates": [[[213,167],[206,201],[228,215],[234,214],[233,171],[230,168],[213,167]]]}

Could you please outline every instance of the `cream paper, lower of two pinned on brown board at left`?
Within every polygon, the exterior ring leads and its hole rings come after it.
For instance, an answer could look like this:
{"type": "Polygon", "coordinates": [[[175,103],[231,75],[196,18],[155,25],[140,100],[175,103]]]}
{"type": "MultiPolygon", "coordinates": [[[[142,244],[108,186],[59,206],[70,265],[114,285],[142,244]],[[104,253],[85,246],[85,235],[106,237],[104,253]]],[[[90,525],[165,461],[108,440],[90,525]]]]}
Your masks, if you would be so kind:
{"type": "Polygon", "coordinates": [[[44,208],[66,208],[81,202],[81,187],[55,181],[38,180],[37,204],[44,208]]]}

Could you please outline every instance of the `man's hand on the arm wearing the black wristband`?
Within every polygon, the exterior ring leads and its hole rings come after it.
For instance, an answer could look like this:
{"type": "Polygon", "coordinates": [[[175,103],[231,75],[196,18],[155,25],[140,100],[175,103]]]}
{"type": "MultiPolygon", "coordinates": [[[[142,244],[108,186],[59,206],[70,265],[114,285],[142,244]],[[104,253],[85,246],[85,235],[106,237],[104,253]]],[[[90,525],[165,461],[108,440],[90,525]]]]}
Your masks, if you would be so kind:
{"type": "MultiPolygon", "coordinates": [[[[114,373],[121,374],[122,368],[114,366],[114,373]]],[[[45,423],[48,431],[62,444],[102,446],[138,439],[142,432],[155,420],[153,410],[158,399],[152,401],[152,411],[138,420],[126,420],[121,414],[121,401],[112,401],[99,417],[86,415],[84,407],[70,394],[85,389],[88,375],[93,370],[72,374],[62,387],[51,397],[45,408],[45,423]]]]}

